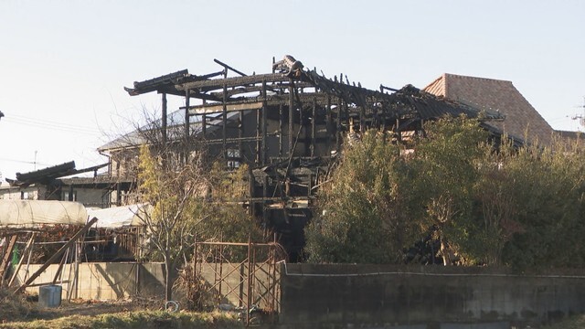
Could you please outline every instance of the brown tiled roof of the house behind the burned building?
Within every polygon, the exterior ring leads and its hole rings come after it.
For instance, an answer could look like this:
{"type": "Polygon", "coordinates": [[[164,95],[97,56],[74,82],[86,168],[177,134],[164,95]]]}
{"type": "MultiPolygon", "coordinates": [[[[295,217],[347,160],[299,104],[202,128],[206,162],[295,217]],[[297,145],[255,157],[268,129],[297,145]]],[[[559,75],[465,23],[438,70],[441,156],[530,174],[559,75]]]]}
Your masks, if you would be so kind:
{"type": "Polygon", "coordinates": [[[548,145],[552,142],[552,127],[516,90],[511,81],[445,73],[424,90],[480,110],[499,111],[504,114],[505,120],[489,124],[510,136],[520,139],[527,136],[529,143],[538,141],[548,145]]]}

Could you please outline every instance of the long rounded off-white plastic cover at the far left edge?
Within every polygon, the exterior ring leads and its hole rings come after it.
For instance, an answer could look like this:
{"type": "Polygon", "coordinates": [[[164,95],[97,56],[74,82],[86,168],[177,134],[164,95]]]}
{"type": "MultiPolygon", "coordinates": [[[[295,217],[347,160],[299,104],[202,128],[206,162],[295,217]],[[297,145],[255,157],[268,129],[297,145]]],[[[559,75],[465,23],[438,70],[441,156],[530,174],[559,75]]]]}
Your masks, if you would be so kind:
{"type": "Polygon", "coordinates": [[[0,200],[0,226],[85,225],[87,220],[87,210],[78,202],[0,200]]]}

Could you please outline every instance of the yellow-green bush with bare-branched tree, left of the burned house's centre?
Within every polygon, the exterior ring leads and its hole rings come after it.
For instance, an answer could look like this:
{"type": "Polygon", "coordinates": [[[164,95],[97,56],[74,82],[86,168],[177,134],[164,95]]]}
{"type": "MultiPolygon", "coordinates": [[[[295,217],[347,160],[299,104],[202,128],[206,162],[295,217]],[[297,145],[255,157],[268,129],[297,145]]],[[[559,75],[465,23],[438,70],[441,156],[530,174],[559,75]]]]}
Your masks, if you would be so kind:
{"type": "Polygon", "coordinates": [[[262,232],[239,203],[248,192],[247,167],[226,174],[225,161],[211,161],[204,141],[193,135],[171,142],[159,123],[137,128],[144,141],[137,158],[138,184],[140,201],[152,206],[142,214],[150,247],[144,259],[164,261],[169,301],[175,273],[187,267],[196,239],[259,241],[262,232]]]}

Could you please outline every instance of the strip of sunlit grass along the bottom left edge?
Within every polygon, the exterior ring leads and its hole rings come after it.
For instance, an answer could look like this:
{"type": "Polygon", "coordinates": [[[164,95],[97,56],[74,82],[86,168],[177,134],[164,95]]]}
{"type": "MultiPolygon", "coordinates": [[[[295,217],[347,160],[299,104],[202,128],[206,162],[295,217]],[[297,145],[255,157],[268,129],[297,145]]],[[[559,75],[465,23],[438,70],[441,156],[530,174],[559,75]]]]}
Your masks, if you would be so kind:
{"type": "Polygon", "coordinates": [[[0,328],[244,328],[224,313],[167,313],[138,311],[96,315],[69,315],[52,320],[0,324],[0,328]]]}

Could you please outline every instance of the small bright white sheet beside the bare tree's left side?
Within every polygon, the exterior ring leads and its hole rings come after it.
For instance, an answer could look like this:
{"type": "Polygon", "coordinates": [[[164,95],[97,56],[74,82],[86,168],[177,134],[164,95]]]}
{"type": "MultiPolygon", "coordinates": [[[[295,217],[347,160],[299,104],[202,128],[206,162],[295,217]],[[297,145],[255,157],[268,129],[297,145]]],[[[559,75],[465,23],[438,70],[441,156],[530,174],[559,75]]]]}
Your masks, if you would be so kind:
{"type": "Polygon", "coordinates": [[[144,213],[150,211],[147,204],[109,207],[104,209],[88,209],[90,218],[98,218],[98,228],[122,228],[142,226],[144,213]]]}

